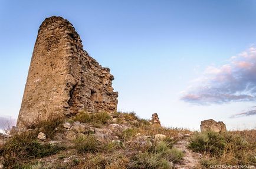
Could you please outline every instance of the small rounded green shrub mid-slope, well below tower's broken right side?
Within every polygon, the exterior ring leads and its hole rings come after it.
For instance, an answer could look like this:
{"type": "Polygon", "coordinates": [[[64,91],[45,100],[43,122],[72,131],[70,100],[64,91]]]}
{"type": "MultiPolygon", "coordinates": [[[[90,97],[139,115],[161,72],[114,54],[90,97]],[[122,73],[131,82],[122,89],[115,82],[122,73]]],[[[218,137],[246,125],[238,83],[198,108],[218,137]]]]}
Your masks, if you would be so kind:
{"type": "Polygon", "coordinates": [[[79,153],[96,152],[100,149],[100,143],[93,135],[78,137],[75,141],[76,150],[79,153]]]}

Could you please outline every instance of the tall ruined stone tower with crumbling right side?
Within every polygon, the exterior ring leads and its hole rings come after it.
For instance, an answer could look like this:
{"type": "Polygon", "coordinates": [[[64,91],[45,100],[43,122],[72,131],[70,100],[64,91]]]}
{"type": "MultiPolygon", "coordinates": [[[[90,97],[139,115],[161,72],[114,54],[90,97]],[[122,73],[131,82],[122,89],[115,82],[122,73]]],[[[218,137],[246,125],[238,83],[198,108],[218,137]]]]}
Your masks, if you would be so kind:
{"type": "Polygon", "coordinates": [[[66,19],[45,19],[38,31],[17,127],[50,116],[73,116],[117,109],[110,69],[83,50],[82,40],[66,19]]]}

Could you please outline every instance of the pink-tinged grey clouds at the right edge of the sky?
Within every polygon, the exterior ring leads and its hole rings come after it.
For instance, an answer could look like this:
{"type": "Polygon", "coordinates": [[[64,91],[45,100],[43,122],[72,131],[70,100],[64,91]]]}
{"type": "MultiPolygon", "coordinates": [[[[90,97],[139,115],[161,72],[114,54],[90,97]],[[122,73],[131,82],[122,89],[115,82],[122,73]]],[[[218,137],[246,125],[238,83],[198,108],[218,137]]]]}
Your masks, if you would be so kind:
{"type": "MultiPolygon", "coordinates": [[[[204,74],[183,92],[181,99],[195,104],[256,100],[256,48],[251,47],[231,57],[225,65],[207,67],[204,74]]],[[[241,113],[240,116],[250,116],[251,113],[241,113]]]]}

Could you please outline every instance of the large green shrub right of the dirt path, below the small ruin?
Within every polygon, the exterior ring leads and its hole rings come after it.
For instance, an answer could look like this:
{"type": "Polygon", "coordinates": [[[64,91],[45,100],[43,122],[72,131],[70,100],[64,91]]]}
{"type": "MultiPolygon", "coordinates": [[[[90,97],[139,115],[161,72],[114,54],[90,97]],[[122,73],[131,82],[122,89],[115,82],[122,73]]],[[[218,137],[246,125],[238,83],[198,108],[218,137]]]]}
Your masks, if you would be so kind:
{"type": "Polygon", "coordinates": [[[195,133],[189,141],[189,148],[199,153],[208,153],[221,156],[225,147],[225,138],[213,131],[195,133]]]}

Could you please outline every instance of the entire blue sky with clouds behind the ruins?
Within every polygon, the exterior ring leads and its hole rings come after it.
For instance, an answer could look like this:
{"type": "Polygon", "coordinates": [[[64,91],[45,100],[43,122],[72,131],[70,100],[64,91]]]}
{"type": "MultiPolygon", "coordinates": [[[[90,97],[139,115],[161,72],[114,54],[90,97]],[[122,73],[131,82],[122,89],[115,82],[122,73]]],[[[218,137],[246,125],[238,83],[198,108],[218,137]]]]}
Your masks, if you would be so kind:
{"type": "Polygon", "coordinates": [[[256,127],[256,1],[238,0],[0,0],[1,117],[17,118],[38,28],[52,15],[73,23],[84,49],[110,67],[119,110],[192,130],[205,119],[256,127]]]}

